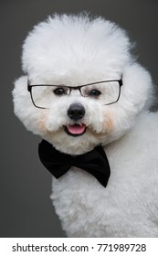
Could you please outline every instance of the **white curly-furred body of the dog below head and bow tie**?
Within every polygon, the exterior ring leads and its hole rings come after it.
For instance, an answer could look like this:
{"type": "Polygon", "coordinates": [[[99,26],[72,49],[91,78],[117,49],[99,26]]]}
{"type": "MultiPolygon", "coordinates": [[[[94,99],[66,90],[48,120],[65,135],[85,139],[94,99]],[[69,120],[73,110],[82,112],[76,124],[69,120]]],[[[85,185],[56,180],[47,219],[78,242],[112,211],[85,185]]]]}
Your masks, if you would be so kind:
{"type": "Polygon", "coordinates": [[[142,124],[105,148],[111,165],[106,188],[77,168],[53,180],[51,197],[69,237],[158,236],[158,145],[150,127],[140,134],[142,124]]]}

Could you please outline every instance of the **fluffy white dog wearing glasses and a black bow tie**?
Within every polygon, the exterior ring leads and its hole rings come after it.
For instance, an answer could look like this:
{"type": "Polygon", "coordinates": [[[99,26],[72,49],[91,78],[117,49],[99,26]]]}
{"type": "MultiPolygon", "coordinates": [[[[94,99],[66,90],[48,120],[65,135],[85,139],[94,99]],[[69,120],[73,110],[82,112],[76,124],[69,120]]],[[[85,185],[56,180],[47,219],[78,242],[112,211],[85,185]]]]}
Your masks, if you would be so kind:
{"type": "Polygon", "coordinates": [[[153,82],[131,48],[120,27],[82,14],[51,16],[26,37],[15,113],[44,139],[47,162],[60,154],[62,169],[65,156],[87,158],[96,147],[108,158],[94,159],[95,174],[79,163],[62,176],[52,167],[68,237],[158,237],[158,114],[148,111],[153,82]]]}

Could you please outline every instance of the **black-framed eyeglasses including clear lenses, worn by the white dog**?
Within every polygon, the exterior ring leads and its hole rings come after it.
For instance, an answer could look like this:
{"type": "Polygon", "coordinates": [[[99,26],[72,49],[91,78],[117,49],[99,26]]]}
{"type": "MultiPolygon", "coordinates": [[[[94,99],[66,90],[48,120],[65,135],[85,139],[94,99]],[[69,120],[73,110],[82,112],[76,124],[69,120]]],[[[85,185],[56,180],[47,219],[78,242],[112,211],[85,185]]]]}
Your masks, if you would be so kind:
{"type": "Polygon", "coordinates": [[[39,109],[49,109],[55,99],[54,97],[68,96],[71,94],[72,90],[78,90],[83,97],[88,97],[94,100],[100,99],[104,105],[111,105],[119,101],[122,84],[122,79],[103,80],[79,86],[48,84],[30,85],[28,81],[27,91],[30,92],[34,106],[39,109]]]}

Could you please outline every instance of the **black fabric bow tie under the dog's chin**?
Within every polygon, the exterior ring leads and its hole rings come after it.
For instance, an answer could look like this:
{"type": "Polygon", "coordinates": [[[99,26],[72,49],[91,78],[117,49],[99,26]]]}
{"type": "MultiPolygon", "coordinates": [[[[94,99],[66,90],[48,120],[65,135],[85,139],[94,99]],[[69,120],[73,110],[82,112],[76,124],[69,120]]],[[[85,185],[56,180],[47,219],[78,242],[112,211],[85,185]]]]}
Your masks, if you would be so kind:
{"type": "Polygon", "coordinates": [[[56,178],[68,172],[71,166],[76,166],[95,176],[103,187],[107,186],[111,169],[101,145],[83,155],[68,155],[42,140],[38,146],[38,154],[42,164],[56,178]]]}

